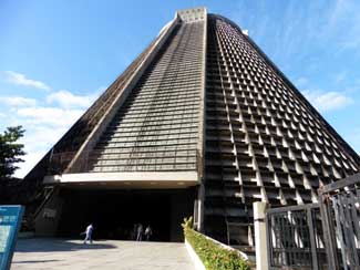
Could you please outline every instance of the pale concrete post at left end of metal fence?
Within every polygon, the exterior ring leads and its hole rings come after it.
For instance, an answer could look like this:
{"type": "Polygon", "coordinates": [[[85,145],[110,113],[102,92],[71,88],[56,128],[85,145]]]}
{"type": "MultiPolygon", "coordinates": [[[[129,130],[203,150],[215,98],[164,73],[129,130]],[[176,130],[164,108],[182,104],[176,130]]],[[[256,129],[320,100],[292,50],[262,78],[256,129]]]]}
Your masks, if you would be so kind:
{"type": "Polygon", "coordinates": [[[253,204],[257,270],[269,270],[265,224],[266,207],[267,204],[263,201],[256,201],[253,204]]]}

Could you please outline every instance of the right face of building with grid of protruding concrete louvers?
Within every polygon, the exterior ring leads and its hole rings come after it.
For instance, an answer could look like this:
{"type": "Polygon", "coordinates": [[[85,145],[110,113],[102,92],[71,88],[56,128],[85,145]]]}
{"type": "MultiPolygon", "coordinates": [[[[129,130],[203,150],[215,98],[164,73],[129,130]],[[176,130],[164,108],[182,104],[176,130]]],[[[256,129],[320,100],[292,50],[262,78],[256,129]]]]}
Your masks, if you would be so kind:
{"type": "Polygon", "coordinates": [[[207,23],[205,233],[254,246],[253,202],[316,202],[360,158],[239,27],[207,23]]]}

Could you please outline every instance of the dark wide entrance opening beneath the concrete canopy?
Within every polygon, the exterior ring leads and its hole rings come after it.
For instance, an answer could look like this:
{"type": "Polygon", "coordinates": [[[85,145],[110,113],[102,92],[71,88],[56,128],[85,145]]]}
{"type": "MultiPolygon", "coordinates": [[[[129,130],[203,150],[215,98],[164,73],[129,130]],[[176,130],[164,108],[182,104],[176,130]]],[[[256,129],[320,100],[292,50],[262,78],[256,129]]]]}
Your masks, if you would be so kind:
{"type": "Polygon", "coordinates": [[[134,225],[152,227],[153,241],[181,241],[181,222],[194,210],[194,189],[70,189],[58,227],[61,237],[80,237],[89,224],[94,239],[133,240],[134,225]]]}

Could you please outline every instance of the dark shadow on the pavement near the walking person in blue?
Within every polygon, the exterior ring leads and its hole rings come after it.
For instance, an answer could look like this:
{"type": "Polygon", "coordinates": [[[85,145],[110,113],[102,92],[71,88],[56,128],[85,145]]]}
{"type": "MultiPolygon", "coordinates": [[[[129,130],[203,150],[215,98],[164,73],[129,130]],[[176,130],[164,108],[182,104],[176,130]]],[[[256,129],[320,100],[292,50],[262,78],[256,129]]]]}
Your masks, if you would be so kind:
{"type": "Polygon", "coordinates": [[[54,251],[74,251],[81,249],[114,249],[116,246],[105,243],[104,241],[93,243],[82,243],[72,239],[56,238],[31,238],[19,239],[16,252],[54,252],[54,251]]]}

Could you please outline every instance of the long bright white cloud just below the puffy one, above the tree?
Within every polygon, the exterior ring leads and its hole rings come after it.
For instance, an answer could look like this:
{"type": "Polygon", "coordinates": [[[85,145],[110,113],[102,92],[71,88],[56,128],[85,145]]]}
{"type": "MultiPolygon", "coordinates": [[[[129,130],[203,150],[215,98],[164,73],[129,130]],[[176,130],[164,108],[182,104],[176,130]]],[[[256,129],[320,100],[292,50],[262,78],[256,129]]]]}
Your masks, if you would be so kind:
{"type": "Polygon", "coordinates": [[[83,114],[83,110],[65,110],[59,107],[23,107],[19,108],[18,115],[24,117],[30,124],[70,126],[83,114]]]}

